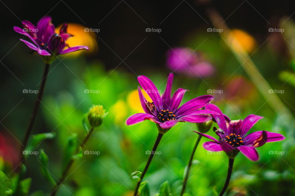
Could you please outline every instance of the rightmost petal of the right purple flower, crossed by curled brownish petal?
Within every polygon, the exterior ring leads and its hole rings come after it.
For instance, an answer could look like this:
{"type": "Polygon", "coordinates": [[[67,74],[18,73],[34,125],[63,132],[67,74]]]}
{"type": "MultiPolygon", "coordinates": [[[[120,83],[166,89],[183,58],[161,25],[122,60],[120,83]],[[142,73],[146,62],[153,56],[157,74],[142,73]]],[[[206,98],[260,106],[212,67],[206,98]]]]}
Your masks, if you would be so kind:
{"type": "MultiPolygon", "coordinates": [[[[265,132],[267,134],[266,142],[282,141],[285,139],[285,137],[282,134],[277,134],[270,131],[265,131],[265,132]]],[[[261,134],[262,134],[262,131],[256,131],[254,133],[246,135],[243,138],[244,145],[252,145],[253,142],[261,136],[261,134]]]]}

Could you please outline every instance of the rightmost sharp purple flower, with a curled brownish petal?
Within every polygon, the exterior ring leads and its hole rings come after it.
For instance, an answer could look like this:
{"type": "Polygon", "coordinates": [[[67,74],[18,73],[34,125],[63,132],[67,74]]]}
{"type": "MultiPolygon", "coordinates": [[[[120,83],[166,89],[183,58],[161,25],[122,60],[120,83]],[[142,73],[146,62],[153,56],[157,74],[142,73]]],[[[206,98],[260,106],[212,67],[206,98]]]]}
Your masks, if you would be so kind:
{"type": "Polygon", "coordinates": [[[263,118],[262,116],[250,114],[244,120],[230,120],[226,115],[223,115],[220,109],[214,104],[208,104],[205,106],[205,108],[220,114],[212,114],[219,126],[219,129],[215,131],[215,133],[219,136],[219,140],[213,138],[210,135],[195,131],[196,133],[213,140],[203,143],[203,147],[206,150],[223,150],[228,155],[234,154],[234,156],[236,156],[240,151],[248,159],[257,161],[259,156],[255,148],[264,145],[265,142],[281,141],[285,139],[283,135],[269,131],[256,131],[246,135],[246,133],[254,126],[254,124],[259,119],[263,118]]]}

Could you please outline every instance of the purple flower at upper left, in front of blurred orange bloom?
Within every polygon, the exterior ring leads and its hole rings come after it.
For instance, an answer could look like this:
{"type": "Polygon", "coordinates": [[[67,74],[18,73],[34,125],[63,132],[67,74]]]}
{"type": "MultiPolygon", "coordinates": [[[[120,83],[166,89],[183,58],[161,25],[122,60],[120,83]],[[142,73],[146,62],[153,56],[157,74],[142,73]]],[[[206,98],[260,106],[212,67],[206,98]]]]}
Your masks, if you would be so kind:
{"type": "Polygon", "coordinates": [[[89,49],[87,46],[65,48],[67,46],[65,40],[72,36],[67,32],[67,23],[61,26],[60,32],[57,34],[51,20],[51,17],[45,16],[37,23],[37,27],[29,21],[22,21],[23,28],[14,27],[14,31],[27,36],[31,42],[20,40],[29,48],[37,51],[39,55],[43,56],[57,56],[78,50],[89,49]]]}

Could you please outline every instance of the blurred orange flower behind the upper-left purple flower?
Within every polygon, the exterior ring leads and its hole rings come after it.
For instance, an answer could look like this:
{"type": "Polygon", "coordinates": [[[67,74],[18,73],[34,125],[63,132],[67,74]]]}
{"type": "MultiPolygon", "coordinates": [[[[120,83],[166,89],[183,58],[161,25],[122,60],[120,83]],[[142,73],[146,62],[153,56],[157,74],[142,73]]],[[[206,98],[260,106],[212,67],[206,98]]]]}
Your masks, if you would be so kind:
{"type": "MultiPolygon", "coordinates": [[[[61,28],[61,25],[56,28],[56,32],[59,33],[59,29],[61,28]]],[[[87,54],[94,53],[98,50],[98,45],[96,42],[96,33],[95,32],[89,32],[85,31],[86,27],[76,24],[76,23],[68,23],[68,33],[73,35],[68,40],[66,40],[66,43],[69,44],[70,47],[76,46],[76,45],[84,45],[89,47],[89,51],[87,54]]],[[[83,53],[84,51],[77,51],[69,53],[69,56],[77,56],[83,53]]]]}

